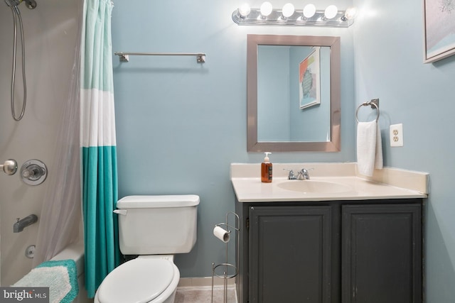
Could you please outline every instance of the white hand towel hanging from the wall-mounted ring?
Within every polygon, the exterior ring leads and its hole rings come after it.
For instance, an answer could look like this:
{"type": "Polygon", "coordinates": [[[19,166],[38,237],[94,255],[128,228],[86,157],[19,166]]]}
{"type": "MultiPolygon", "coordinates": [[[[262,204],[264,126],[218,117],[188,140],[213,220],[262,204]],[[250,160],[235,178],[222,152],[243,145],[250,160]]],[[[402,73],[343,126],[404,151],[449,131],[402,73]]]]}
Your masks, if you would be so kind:
{"type": "Polygon", "coordinates": [[[357,126],[357,167],[360,174],[371,177],[382,169],[381,132],[376,121],[359,122],[357,126]]]}

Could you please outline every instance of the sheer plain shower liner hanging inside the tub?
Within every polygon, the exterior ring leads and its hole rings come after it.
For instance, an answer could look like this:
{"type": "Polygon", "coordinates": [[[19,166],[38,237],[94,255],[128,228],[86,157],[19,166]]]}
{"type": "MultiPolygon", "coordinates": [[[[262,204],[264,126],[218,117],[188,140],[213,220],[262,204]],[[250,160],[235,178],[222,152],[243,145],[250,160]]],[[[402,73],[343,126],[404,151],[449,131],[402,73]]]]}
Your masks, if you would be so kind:
{"type": "MultiPolygon", "coordinates": [[[[82,16],[82,4],[77,5],[77,16],[82,16]]],[[[60,116],[59,132],[55,138],[55,156],[50,163],[53,168],[48,175],[48,187],[39,217],[33,268],[50,260],[70,243],[79,241],[82,236],[79,143],[81,26],[82,20],[77,23],[72,79],[68,98],[63,100],[63,114],[60,116]]]]}

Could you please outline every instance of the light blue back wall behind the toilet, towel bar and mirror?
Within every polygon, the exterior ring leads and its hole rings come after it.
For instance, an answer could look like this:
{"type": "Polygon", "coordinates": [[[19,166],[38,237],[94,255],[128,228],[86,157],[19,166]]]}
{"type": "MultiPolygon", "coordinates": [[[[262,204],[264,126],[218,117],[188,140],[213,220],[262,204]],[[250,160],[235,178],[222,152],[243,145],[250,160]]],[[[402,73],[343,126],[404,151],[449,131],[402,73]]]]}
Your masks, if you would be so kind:
{"type": "Polygon", "coordinates": [[[224,260],[225,246],[212,231],[235,206],[230,163],[264,158],[247,153],[247,33],[341,36],[341,152],[274,153],[271,159],[355,160],[353,30],[237,26],[231,14],[238,5],[225,0],[116,1],[113,11],[114,51],[207,54],[203,64],[193,57],[141,56],[120,64],[113,57],[119,197],[200,195],[196,247],[176,256],[182,277],[208,277],[211,263],[224,260]]]}

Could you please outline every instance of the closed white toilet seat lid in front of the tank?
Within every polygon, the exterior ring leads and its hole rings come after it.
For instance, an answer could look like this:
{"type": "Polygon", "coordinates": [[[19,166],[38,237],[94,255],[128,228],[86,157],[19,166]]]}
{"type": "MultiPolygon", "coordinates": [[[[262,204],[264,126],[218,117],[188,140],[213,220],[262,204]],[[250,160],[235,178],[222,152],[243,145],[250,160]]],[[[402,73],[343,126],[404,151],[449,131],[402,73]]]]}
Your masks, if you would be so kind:
{"type": "Polygon", "coordinates": [[[130,260],[105,277],[97,297],[101,303],[151,302],[171,284],[174,266],[165,259],[130,260]]]}

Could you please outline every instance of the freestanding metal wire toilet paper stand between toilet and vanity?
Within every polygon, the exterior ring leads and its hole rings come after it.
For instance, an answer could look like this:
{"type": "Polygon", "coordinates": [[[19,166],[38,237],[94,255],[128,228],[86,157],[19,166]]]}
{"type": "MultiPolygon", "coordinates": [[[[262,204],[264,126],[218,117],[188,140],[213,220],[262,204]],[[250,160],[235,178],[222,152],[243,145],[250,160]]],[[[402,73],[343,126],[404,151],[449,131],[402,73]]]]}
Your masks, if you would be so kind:
{"type": "MultiPolygon", "coordinates": [[[[225,228],[225,230],[228,232],[228,234],[231,233],[232,230],[235,231],[235,241],[237,243],[237,255],[239,255],[239,231],[240,231],[240,218],[235,212],[228,211],[226,213],[226,221],[225,223],[220,223],[216,224],[215,228],[217,227],[222,227],[225,228]],[[234,225],[230,224],[230,221],[234,221],[234,225]]],[[[224,242],[224,241],[223,241],[224,242]]],[[[228,260],[228,244],[229,241],[225,242],[226,245],[226,261],[225,263],[220,263],[215,265],[215,263],[212,263],[212,303],[213,303],[213,285],[214,285],[214,279],[215,277],[220,277],[223,279],[224,283],[224,303],[228,303],[228,279],[232,279],[233,277],[237,277],[239,273],[239,269],[235,264],[229,263],[228,260]],[[218,270],[218,272],[217,272],[218,270]],[[220,272],[223,272],[222,274],[220,272]]]]}

